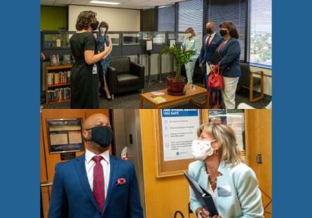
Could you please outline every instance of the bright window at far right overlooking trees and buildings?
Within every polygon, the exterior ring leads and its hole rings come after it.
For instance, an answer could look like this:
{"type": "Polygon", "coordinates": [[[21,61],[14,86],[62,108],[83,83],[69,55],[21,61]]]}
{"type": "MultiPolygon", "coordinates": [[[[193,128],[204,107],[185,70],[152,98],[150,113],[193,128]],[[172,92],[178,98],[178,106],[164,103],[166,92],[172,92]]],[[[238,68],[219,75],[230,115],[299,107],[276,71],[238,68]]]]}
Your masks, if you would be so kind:
{"type": "Polygon", "coordinates": [[[272,0],[251,0],[250,62],[272,66],[272,0]]]}

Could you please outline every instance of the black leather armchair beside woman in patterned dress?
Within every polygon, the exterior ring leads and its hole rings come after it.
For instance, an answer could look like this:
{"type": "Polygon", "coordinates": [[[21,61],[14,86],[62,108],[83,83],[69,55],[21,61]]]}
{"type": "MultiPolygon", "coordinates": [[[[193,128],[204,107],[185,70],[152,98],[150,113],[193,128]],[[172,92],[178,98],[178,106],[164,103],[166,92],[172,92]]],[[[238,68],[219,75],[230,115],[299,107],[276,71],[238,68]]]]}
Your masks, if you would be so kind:
{"type": "Polygon", "coordinates": [[[112,57],[107,83],[113,99],[114,94],[121,92],[143,92],[144,66],[130,61],[130,57],[112,57]]]}

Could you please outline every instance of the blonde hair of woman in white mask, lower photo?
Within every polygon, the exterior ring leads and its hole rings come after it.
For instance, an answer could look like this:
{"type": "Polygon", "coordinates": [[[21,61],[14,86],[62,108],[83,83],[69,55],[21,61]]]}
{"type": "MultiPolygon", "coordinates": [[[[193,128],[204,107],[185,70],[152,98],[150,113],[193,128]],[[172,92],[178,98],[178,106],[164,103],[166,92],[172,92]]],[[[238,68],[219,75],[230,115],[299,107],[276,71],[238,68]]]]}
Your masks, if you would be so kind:
{"type": "Polygon", "coordinates": [[[202,124],[197,129],[197,136],[205,131],[219,143],[220,161],[229,163],[231,167],[241,163],[235,132],[224,124],[202,124]]]}

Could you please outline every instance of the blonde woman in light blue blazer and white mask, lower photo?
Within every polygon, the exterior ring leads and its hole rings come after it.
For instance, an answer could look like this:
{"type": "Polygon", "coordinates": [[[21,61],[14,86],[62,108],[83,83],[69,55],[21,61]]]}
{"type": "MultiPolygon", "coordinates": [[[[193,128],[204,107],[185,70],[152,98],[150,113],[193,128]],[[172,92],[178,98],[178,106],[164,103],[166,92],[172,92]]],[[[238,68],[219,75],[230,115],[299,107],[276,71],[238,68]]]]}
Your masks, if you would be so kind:
{"type": "MultiPolygon", "coordinates": [[[[203,124],[192,144],[197,161],[189,175],[212,195],[219,216],[213,218],[264,217],[261,192],[254,171],[240,160],[236,136],[224,124],[203,124]]],[[[197,218],[210,217],[190,188],[190,207],[197,218]]]]}

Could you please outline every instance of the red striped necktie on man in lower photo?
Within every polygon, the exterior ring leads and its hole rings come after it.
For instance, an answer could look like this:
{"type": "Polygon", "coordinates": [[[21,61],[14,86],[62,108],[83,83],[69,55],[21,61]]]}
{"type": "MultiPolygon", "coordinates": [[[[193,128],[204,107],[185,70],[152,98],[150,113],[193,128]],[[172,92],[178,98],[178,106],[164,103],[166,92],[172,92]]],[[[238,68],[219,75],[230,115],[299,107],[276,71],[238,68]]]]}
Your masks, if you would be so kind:
{"type": "Polygon", "coordinates": [[[101,212],[104,209],[105,202],[104,173],[102,164],[100,163],[102,159],[102,156],[93,157],[95,161],[95,166],[93,167],[93,196],[101,212]]]}

